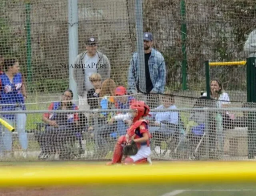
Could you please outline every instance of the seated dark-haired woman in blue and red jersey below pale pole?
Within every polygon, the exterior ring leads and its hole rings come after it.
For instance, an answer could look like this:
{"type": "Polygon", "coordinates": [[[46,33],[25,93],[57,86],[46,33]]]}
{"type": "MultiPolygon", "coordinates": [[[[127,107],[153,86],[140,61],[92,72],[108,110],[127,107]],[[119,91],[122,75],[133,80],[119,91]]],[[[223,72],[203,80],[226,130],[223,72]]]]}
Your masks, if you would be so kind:
{"type": "MultiPolygon", "coordinates": [[[[56,110],[78,110],[78,107],[72,103],[73,93],[66,90],[62,94],[60,102],[51,103],[48,107],[49,111],[56,110]]],[[[78,113],[45,113],[42,121],[46,123],[45,131],[37,134],[38,143],[42,149],[40,156],[56,154],[59,152],[60,157],[65,154],[66,142],[74,139],[77,135],[75,129],[78,128],[78,113]]]]}

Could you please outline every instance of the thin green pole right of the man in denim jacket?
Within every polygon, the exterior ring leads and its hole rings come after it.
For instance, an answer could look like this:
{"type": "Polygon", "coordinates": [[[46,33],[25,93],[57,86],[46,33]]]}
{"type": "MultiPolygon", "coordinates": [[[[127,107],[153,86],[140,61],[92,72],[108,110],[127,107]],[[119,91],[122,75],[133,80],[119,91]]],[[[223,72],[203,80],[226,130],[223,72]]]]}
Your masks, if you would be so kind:
{"type": "Polygon", "coordinates": [[[186,26],[186,2],[181,0],[180,2],[180,15],[181,15],[181,42],[182,42],[182,89],[187,89],[187,53],[186,53],[186,38],[187,38],[187,26],[186,26]]]}

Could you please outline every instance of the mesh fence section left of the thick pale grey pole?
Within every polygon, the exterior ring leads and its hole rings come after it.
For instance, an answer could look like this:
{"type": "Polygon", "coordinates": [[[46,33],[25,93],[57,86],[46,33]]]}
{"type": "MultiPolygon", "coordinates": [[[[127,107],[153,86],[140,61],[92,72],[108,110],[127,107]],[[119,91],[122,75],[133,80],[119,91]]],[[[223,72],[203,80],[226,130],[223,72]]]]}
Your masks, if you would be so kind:
{"type": "MultiPolygon", "coordinates": [[[[67,4],[1,1],[1,55],[16,58],[28,92],[59,93],[68,87],[67,4]]],[[[7,71],[4,64],[2,71],[7,71]]]]}

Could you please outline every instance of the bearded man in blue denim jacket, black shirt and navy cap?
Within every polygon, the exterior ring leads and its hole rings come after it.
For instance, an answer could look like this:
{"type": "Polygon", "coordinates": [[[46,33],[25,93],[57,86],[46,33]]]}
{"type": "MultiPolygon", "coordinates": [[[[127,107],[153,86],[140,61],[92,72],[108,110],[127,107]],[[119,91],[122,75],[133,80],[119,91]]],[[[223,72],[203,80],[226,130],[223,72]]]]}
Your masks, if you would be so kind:
{"type": "MultiPolygon", "coordinates": [[[[145,79],[146,93],[164,93],[166,84],[166,65],[162,54],[152,48],[153,36],[150,32],[143,35],[144,51],[145,51],[145,79]]],[[[128,73],[128,93],[137,93],[136,84],[139,80],[139,59],[138,53],[132,55],[128,73]]],[[[145,93],[145,92],[144,92],[145,93]]],[[[156,95],[152,95],[156,98],[156,95]]],[[[148,96],[152,97],[152,96],[148,96]]]]}

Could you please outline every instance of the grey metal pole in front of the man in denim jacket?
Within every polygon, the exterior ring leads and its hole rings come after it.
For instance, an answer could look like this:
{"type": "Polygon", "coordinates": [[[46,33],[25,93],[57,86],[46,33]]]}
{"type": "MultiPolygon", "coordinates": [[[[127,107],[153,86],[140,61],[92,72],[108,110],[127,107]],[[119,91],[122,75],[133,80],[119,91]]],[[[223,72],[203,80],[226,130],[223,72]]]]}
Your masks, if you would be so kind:
{"type": "MultiPolygon", "coordinates": [[[[139,71],[139,88],[137,90],[146,93],[146,75],[145,75],[145,57],[144,57],[144,42],[143,42],[143,15],[142,15],[142,0],[135,0],[135,22],[137,34],[137,52],[138,52],[138,71],[139,71]]],[[[149,77],[149,75],[147,76],[149,77]]]]}

